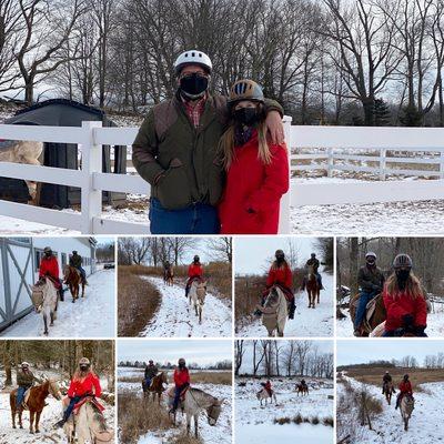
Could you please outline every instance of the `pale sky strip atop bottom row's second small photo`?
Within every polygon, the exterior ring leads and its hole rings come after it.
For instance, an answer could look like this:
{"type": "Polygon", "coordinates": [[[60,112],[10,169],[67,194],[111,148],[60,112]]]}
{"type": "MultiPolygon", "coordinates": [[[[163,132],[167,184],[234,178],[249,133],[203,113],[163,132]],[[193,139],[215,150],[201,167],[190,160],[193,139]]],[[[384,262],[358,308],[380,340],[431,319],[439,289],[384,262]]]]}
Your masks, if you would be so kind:
{"type": "Polygon", "coordinates": [[[231,340],[118,340],[119,361],[188,362],[213,364],[233,359],[231,340]]]}

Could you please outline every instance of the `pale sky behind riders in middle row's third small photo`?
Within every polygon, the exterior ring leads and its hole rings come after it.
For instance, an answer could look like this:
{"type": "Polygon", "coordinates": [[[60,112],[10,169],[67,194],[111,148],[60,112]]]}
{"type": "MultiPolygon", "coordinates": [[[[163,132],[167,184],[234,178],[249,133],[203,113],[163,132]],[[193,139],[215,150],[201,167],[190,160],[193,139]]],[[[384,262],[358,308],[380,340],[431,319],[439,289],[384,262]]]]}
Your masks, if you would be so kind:
{"type": "Polygon", "coordinates": [[[295,245],[297,265],[303,265],[312,252],[320,255],[315,246],[316,238],[236,238],[234,240],[234,260],[236,274],[258,274],[270,268],[270,261],[279,249],[289,252],[289,243],[295,245]]]}

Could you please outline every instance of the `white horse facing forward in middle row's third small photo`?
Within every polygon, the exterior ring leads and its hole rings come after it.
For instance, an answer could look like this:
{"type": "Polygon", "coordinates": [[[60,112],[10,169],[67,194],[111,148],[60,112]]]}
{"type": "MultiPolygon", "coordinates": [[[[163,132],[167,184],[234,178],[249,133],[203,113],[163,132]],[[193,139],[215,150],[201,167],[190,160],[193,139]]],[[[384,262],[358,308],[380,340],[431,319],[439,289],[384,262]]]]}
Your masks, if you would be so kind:
{"type": "Polygon", "coordinates": [[[286,297],[279,286],[273,286],[265,297],[264,306],[258,309],[262,312],[262,323],[269,332],[269,336],[284,335],[289,307],[286,297]]]}

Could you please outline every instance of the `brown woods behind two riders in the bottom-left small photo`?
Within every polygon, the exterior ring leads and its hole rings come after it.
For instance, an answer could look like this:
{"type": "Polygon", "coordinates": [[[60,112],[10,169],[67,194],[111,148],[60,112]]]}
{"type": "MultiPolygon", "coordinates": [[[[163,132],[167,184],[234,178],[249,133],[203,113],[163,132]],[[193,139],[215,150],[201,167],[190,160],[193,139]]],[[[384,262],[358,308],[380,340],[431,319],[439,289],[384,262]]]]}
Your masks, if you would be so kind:
{"type": "Polygon", "coordinates": [[[114,390],[113,341],[0,341],[1,363],[6,385],[12,385],[12,372],[26,361],[32,372],[56,370],[64,377],[72,377],[79,360],[88,357],[100,376],[107,376],[109,390],[114,390]]]}

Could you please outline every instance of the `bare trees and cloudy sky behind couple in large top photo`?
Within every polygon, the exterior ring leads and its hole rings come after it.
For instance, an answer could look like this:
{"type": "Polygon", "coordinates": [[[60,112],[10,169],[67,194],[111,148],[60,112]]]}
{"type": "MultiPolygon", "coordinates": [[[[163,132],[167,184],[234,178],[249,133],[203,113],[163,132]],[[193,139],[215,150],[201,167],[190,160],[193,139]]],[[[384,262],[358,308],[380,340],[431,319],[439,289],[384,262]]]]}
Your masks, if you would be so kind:
{"type": "Polygon", "coordinates": [[[213,91],[252,78],[299,124],[444,124],[442,0],[1,0],[0,20],[0,91],[28,104],[46,84],[144,112],[196,48],[213,91]]]}

